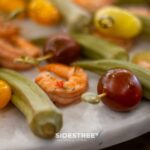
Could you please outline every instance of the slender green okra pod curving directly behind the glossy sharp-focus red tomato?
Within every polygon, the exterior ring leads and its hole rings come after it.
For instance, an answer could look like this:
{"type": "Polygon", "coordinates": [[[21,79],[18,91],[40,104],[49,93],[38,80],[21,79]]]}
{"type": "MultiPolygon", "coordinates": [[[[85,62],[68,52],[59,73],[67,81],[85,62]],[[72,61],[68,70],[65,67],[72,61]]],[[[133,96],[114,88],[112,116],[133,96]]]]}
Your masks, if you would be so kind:
{"type": "Polygon", "coordinates": [[[143,87],[143,96],[150,100],[150,70],[142,68],[130,62],[119,60],[97,60],[97,61],[79,61],[74,63],[84,69],[103,75],[109,69],[125,68],[132,71],[140,80],[143,87]]]}

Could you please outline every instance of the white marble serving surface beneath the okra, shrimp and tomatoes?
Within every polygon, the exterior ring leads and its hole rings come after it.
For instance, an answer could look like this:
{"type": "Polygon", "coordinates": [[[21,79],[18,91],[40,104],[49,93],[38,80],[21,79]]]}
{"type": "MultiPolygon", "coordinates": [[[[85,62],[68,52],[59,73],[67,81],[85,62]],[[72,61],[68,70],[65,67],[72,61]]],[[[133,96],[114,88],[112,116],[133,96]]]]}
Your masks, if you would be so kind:
{"type": "MultiPolygon", "coordinates": [[[[30,23],[23,26],[24,34],[30,34],[31,38],[51,33],[48,28],[35,28],[30,23]]],[[[136,49],[148,47],[141,44],[136,49]]],[[[33,79],[37,71],[34,69],[23,74],[33,79]]],[[[89,79],[89,90],[96,92],[99,76],[89,73],[89,79]]],[[[147,101],[143,101],[138,108],[128,113],[111,111],[102,103],[97,106],[79,103],[61,111],[64,116],[61,133],[94,132],[99,133],[99,136],[93,140],[37,138],[32,134],[23,115],[10,105],[0,111],[0,150],[98,150],[150,131],[150,103],[147,101]]]]}

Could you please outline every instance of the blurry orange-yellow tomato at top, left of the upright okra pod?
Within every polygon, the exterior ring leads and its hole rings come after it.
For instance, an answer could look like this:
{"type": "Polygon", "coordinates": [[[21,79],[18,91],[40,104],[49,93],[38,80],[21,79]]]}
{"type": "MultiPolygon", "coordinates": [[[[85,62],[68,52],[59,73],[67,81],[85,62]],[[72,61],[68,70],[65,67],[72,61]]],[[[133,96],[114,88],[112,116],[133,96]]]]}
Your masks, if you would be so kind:
{"type": "Polygon", "coordinates": [[[60,19],[58,10],[49,0],[31,0],[28,13],[32,20],[43,25],[56,24],[60,19]]]}

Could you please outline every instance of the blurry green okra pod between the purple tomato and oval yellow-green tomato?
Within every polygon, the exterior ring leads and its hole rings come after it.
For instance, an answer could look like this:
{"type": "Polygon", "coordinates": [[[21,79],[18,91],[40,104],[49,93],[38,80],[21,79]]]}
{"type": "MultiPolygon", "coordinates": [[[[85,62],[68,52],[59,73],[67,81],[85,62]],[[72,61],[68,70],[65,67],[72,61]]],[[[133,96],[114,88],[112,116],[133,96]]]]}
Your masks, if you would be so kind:
{"type": "Polygon", "coordinates": [[[90,59],[128,60],[127,51],[107,40],[89,34],[71,33],[82,47],[82,54],[90,59]]]}

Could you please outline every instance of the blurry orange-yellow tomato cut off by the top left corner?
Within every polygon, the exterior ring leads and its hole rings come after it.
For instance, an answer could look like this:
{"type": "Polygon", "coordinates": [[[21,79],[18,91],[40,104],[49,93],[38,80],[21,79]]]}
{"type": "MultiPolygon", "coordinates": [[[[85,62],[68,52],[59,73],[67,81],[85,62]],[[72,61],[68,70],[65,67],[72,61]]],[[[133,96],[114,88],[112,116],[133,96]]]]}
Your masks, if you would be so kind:
{"type": "Polygon", "coordinates": [[[25,9],[25,0],[0,0],[0,10],[6,13],[11,13],[17,9],[25,9]]]}

